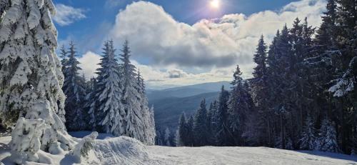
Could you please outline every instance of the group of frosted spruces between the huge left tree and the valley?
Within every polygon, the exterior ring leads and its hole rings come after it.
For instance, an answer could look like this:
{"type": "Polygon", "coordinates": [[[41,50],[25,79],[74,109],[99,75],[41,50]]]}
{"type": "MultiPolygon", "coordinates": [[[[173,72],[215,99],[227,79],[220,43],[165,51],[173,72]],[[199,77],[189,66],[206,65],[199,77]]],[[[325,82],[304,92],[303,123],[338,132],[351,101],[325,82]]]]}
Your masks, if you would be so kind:
{"type": "Polygon", "coordinates": [[[144,79],[129,59],[129,42],[121,49],[119,63],[114,42],[105,41],[98,76],[89,80],[79,74],[76,53],[73,42],[69,49],[60,49],[66,129],[131,136],[154,144],[154,111],[148,107],[144,79]]]}

